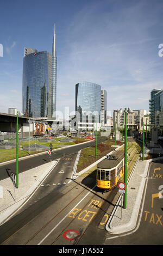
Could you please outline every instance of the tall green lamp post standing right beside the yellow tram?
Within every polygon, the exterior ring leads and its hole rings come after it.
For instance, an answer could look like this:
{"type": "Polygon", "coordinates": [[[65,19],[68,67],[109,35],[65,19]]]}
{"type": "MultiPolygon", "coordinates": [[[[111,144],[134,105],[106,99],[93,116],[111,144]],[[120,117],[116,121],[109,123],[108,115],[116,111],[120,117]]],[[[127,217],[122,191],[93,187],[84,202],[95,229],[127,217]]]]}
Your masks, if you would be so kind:
{"type": "MultiPolygon", "coordinates": [[[[118,113],[123,113],[123,108],[120,109],[118,113]]],[[[126,209],[127,206],[127,112],[134,113],[131,108],[124,108],[124,184],[126,185],[124,200],[123,200],[123,208],[126,209]]]]}

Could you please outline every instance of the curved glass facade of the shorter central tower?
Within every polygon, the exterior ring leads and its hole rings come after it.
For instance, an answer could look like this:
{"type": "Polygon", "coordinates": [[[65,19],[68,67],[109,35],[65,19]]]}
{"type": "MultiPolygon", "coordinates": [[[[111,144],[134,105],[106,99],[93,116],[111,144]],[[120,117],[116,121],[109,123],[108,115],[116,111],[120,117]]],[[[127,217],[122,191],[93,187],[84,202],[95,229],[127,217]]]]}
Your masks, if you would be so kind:
{"type": "Polygon", "coordinates": [[[100,123],[101,86],[95,83],[76,84],[76,116],[81,123],[100,123]]]}

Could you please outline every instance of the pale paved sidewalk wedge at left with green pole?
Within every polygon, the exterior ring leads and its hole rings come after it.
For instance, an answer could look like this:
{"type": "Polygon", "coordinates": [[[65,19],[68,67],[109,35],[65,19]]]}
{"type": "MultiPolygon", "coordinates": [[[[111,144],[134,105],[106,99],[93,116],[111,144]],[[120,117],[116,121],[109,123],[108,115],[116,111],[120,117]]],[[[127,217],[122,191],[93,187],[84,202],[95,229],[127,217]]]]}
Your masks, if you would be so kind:
{"type": "Polygon", "coordinates": [[[18,174],[18,188],[14,188],[12,178],[0,181],[0,225],[8,221],[32,197],[58,161],[54,160],[18,174]]]}

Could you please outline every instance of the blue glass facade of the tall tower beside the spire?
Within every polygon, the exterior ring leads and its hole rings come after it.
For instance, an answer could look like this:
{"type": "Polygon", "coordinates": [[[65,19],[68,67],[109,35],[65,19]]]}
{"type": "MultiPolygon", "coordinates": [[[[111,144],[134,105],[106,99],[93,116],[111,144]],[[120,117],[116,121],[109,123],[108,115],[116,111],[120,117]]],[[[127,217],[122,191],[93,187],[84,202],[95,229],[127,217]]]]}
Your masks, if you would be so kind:
{"type": "Polygon", "coordinates": [[[47,51],[23,58],[22,112],[28,117],[52,117],[52,55],[47,51]]]}

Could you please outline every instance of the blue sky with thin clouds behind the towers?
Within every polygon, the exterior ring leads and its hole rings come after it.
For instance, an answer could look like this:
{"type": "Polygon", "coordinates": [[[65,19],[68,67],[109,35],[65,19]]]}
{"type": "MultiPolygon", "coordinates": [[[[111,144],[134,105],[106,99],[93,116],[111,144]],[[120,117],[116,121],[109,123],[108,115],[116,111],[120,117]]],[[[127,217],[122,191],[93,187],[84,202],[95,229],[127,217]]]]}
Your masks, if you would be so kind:
{"type": "Polygon", "coordinates": [[[0,9],[0,112],[22,110],[24,47],[52,53],[54,23],[58,111],[74,111],[80,81],[108,92],[111,113],[148,111],[151,90],[163,88],[162,0],[1,0],[0,9]]]}

